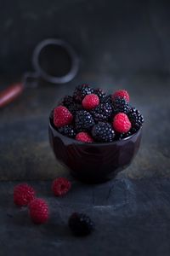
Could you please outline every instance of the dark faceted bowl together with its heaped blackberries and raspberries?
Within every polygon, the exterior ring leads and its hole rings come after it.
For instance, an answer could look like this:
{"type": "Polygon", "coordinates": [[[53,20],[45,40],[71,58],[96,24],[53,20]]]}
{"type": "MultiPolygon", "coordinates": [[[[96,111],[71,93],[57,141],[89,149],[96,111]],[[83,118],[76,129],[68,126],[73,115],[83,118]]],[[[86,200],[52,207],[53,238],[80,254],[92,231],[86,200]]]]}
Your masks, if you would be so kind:
{"type": "Polygon", "coordinates": [[[73,177],[86,183],[105,182],[132,162],[143,123],[126,90],[107,95],[82,84],[50,113],[49,142],[73,177]]]}

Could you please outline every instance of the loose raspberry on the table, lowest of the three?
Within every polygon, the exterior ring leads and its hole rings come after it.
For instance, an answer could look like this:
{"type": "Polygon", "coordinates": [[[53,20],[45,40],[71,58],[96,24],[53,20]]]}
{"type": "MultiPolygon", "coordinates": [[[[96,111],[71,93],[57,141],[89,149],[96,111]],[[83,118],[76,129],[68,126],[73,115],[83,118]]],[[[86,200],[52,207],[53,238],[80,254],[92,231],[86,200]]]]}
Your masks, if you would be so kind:
{"type": "Polygon", "coordinates": [[[36,198],[29,204],[30,217],[36,224],[42,224],[48,220],[48,204],[41,198],[36,198]]]}

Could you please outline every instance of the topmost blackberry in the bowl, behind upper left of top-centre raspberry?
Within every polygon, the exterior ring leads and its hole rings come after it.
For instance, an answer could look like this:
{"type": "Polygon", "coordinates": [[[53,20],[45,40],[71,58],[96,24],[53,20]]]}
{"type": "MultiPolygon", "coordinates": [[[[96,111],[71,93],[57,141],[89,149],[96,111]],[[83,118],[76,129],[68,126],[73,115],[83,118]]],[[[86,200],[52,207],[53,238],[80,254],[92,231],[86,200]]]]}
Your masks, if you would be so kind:
{"type": "Polygon", "coordinates": [[[89,84],[78,85],[74,90],[73,98],[76,102],[81,103],[85,96],[92,93],[94,93],[94,89],[89,84]]]}

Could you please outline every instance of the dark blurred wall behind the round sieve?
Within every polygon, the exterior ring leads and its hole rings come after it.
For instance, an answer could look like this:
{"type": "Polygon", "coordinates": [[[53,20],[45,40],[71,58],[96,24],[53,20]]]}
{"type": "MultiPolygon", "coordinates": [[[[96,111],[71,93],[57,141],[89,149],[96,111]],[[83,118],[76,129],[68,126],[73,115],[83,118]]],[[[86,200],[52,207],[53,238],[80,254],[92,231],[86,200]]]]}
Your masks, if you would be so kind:
{"type": "Polygon", "coordinates": [[[169,73],[168,1],[0,1],[0,75],[31,68],[43,38],[65,38],[82,71],[169,73]]]}

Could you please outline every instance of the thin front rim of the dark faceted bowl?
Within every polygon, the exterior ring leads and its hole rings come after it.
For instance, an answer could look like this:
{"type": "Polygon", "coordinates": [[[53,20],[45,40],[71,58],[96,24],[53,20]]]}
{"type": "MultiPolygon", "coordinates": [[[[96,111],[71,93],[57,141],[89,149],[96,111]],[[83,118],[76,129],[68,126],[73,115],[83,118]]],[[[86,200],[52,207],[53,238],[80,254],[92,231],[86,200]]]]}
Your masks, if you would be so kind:
{"type": "Polygon", "coordinates": [[[67,141],[69,140],[71,143],[85,145],[85,146],[87,146],[87,145],[88,146],[97,146],[98,145],[98,146],[101,146],[101,147],[104,147],[104,146],[107,146],[107,145],[114,145],[114,144],[117,144],[117,143],[123,143],[125,141],[128,141],[128,140],[132,139],[133,137],[138,136],[141,133],[142,128],[143,128],[143,126],[141,126],[138,131],[136,131],[135,133],[133,133],[132,135],[130,135],[128,137],[123,138],[120,141],[116,140],[116,141],[113,141],[111,143],[83,143],[81,141],[77,141],[74,138],[66,137],[63,134],[61,134],[59,131],[57,131],[55,129],[55,127],[54,127],[54,122],[53,122],[53,120],[50,117],[49,117],[49,124],[48,124],[48,126],[50,127],[51,130],[53,130],[56,134],[58,134],[59,137],[63,137],[64,139],[67,139],[67,141]]]}

